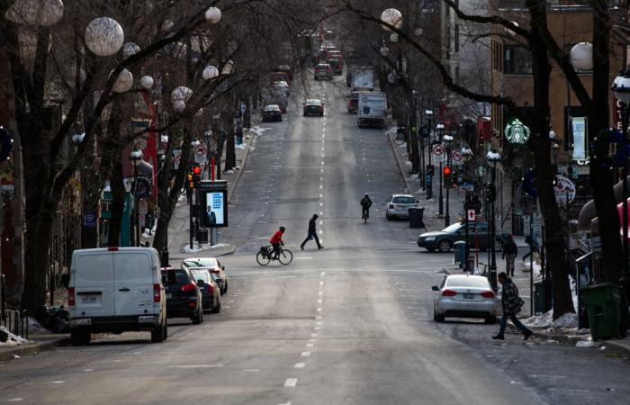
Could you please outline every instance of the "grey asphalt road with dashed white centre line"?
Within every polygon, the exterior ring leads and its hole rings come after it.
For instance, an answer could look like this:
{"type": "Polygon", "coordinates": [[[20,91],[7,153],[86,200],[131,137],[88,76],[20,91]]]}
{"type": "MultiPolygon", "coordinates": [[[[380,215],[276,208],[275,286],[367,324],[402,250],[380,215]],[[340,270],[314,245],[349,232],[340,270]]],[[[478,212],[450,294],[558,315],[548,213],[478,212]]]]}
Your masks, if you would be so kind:
{"type": "Polygon", "coordinates": [[[497,327],[476,321],[433,322],[430,287],[451,255],[419,251],[418,229],[384,219],[387,196],[404,190],[388,140],[356,128],[338,86],[309,83],[326,115],[302,117],[294,104],[288,120],[262,124],[229,207],[224,236],[238,250],[223,259],[221,313],[200,326],[172,320],[164,344],[105,335],[0,364],[0,401],[626,403],[622,359],[517,335],[491,341],[497,327]],[[302,252],[313,213],[325,248],[311,241],[302,252]],[[279,226],[293,263],[257,266],[279,226]]]}

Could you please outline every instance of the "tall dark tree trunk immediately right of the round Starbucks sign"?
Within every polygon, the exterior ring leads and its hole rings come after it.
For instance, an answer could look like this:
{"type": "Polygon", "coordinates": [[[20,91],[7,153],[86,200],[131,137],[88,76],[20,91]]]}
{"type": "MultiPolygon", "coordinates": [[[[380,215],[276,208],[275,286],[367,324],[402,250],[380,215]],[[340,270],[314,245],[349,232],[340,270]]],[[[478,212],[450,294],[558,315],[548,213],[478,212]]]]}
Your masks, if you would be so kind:
{"type": "Polygon", "coordinates": [[[551,269],[554,288],[554,320],[567,312],[574,312],[569,285],[570,263],[562,215],[555,201],[554,166],[551,165],[549,141],[549,74],[551,67],[541,27],[546,26],[545,2],[527,0],[531,14],[532,65],[534,68],[534,107],[536,109],[533,138],[530,139],[536,162],[538,201],[545,220],[545,252],[551,269]]]}

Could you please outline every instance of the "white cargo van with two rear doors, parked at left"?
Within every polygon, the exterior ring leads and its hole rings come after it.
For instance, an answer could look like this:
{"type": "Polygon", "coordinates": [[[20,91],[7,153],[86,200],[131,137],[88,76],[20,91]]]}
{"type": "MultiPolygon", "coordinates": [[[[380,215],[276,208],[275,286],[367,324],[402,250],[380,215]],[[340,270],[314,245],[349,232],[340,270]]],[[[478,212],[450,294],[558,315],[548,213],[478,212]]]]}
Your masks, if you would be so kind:
{"type": "Polygon", "coordinates": [[[67,303],[73,345],[89,343],[95,332],[148,330],[153,342],[167,337],[166,294],[152,247],[75,250],[67,303]]]}

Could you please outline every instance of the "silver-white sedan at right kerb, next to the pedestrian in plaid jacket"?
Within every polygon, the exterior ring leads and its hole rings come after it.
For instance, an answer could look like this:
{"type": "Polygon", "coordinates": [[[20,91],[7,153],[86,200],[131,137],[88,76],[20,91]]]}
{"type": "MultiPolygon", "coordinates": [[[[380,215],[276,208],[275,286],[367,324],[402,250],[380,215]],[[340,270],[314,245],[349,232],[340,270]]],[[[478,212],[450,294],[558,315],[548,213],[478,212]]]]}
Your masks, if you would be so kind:
{"type": "Polygon", "coordinates": [[[498,301],[488,278],[482,275],[447,275],[438,287],[433,305],[433,320],[444,322],[447,317],[482,318],[496,323],[498,301]]]}

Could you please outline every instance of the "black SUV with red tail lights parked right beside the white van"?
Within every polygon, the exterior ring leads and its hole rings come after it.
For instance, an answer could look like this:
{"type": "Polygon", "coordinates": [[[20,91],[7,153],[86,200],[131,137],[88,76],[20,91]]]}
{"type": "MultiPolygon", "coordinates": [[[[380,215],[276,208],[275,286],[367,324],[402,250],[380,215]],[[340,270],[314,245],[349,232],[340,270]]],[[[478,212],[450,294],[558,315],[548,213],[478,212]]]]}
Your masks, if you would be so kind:
{"type": "Polygon", "coordinates": [[[190,318],[195,325],[203,322],[202,292],[186,267],[162,270],[162,284],[168,318],[190,318]]]}

